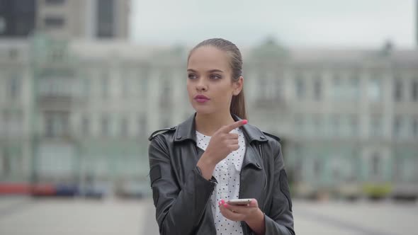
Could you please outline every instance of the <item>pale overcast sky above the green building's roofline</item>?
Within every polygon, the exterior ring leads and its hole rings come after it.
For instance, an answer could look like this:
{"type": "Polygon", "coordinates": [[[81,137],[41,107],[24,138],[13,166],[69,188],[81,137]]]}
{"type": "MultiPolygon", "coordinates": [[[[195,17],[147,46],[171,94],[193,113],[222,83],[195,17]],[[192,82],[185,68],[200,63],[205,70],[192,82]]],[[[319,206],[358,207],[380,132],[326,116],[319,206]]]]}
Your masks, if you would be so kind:
{"type": "Polygon", "coordinates": [[[239,46],[272,35],[290,47],[417,47],[418,0],[132,0],[131,39],[239,46]]]}

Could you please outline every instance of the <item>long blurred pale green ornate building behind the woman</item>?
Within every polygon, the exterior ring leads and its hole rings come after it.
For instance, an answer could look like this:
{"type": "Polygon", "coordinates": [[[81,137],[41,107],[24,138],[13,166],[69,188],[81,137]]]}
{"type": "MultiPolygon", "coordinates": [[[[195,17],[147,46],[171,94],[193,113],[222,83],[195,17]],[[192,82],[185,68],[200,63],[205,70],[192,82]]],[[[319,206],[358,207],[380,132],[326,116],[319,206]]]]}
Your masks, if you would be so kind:
{"type": "MultiPolygon", "coordinates": [[[[147,184],[147,137],[193,113],[184,47],[45,35],[0,46],[4,180],[147,184]]],[[[418,184],[416,50],[269,40],[242,53],[249,122],[281,137],[300,192],[418,184]]]]}

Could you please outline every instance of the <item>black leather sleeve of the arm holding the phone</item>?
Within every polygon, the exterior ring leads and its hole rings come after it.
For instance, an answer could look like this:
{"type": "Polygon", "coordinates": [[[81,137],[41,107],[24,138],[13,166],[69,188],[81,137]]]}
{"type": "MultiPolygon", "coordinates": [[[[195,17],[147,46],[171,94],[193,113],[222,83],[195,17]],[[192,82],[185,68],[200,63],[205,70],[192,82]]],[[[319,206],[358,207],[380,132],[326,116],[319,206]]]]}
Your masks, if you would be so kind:
{"type": "Polygon", "coordinates": [[[271,202],[271,214],[264,214],[266,235],[295,235],[293,229],[292,200],[286,171],[284,169],[281,144],[277,143],[274,157],[274,189],[271,202]]]}

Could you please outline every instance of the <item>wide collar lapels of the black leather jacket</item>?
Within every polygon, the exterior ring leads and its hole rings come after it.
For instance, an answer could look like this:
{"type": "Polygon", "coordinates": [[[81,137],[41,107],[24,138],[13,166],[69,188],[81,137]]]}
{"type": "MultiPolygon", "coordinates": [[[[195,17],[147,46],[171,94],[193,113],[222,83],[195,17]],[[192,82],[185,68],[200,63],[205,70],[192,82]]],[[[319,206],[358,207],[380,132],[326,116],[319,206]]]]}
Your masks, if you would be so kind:
{"type": "MultiPolygon", "coordinates": [[[[195,117],[196,113],[188,117],[187,120],[182,122],[180,125],[176,128],[176,133],[174,134],[174,142],[182,142],[186,139],[191,139],[196,143],[196,125],[195,125],[195,117]]],[[[235,121],[242,120],[237,115],[232,114],[232,118],[235,121]]],[[[258,142],[266,142],[267,138],[264,135],[259,128],[254,127],[253,125],[243,125],[242,130],[244,132],[244,135],[247,137],[247,141],[249,143],[253,141],[258,142]]]]}

